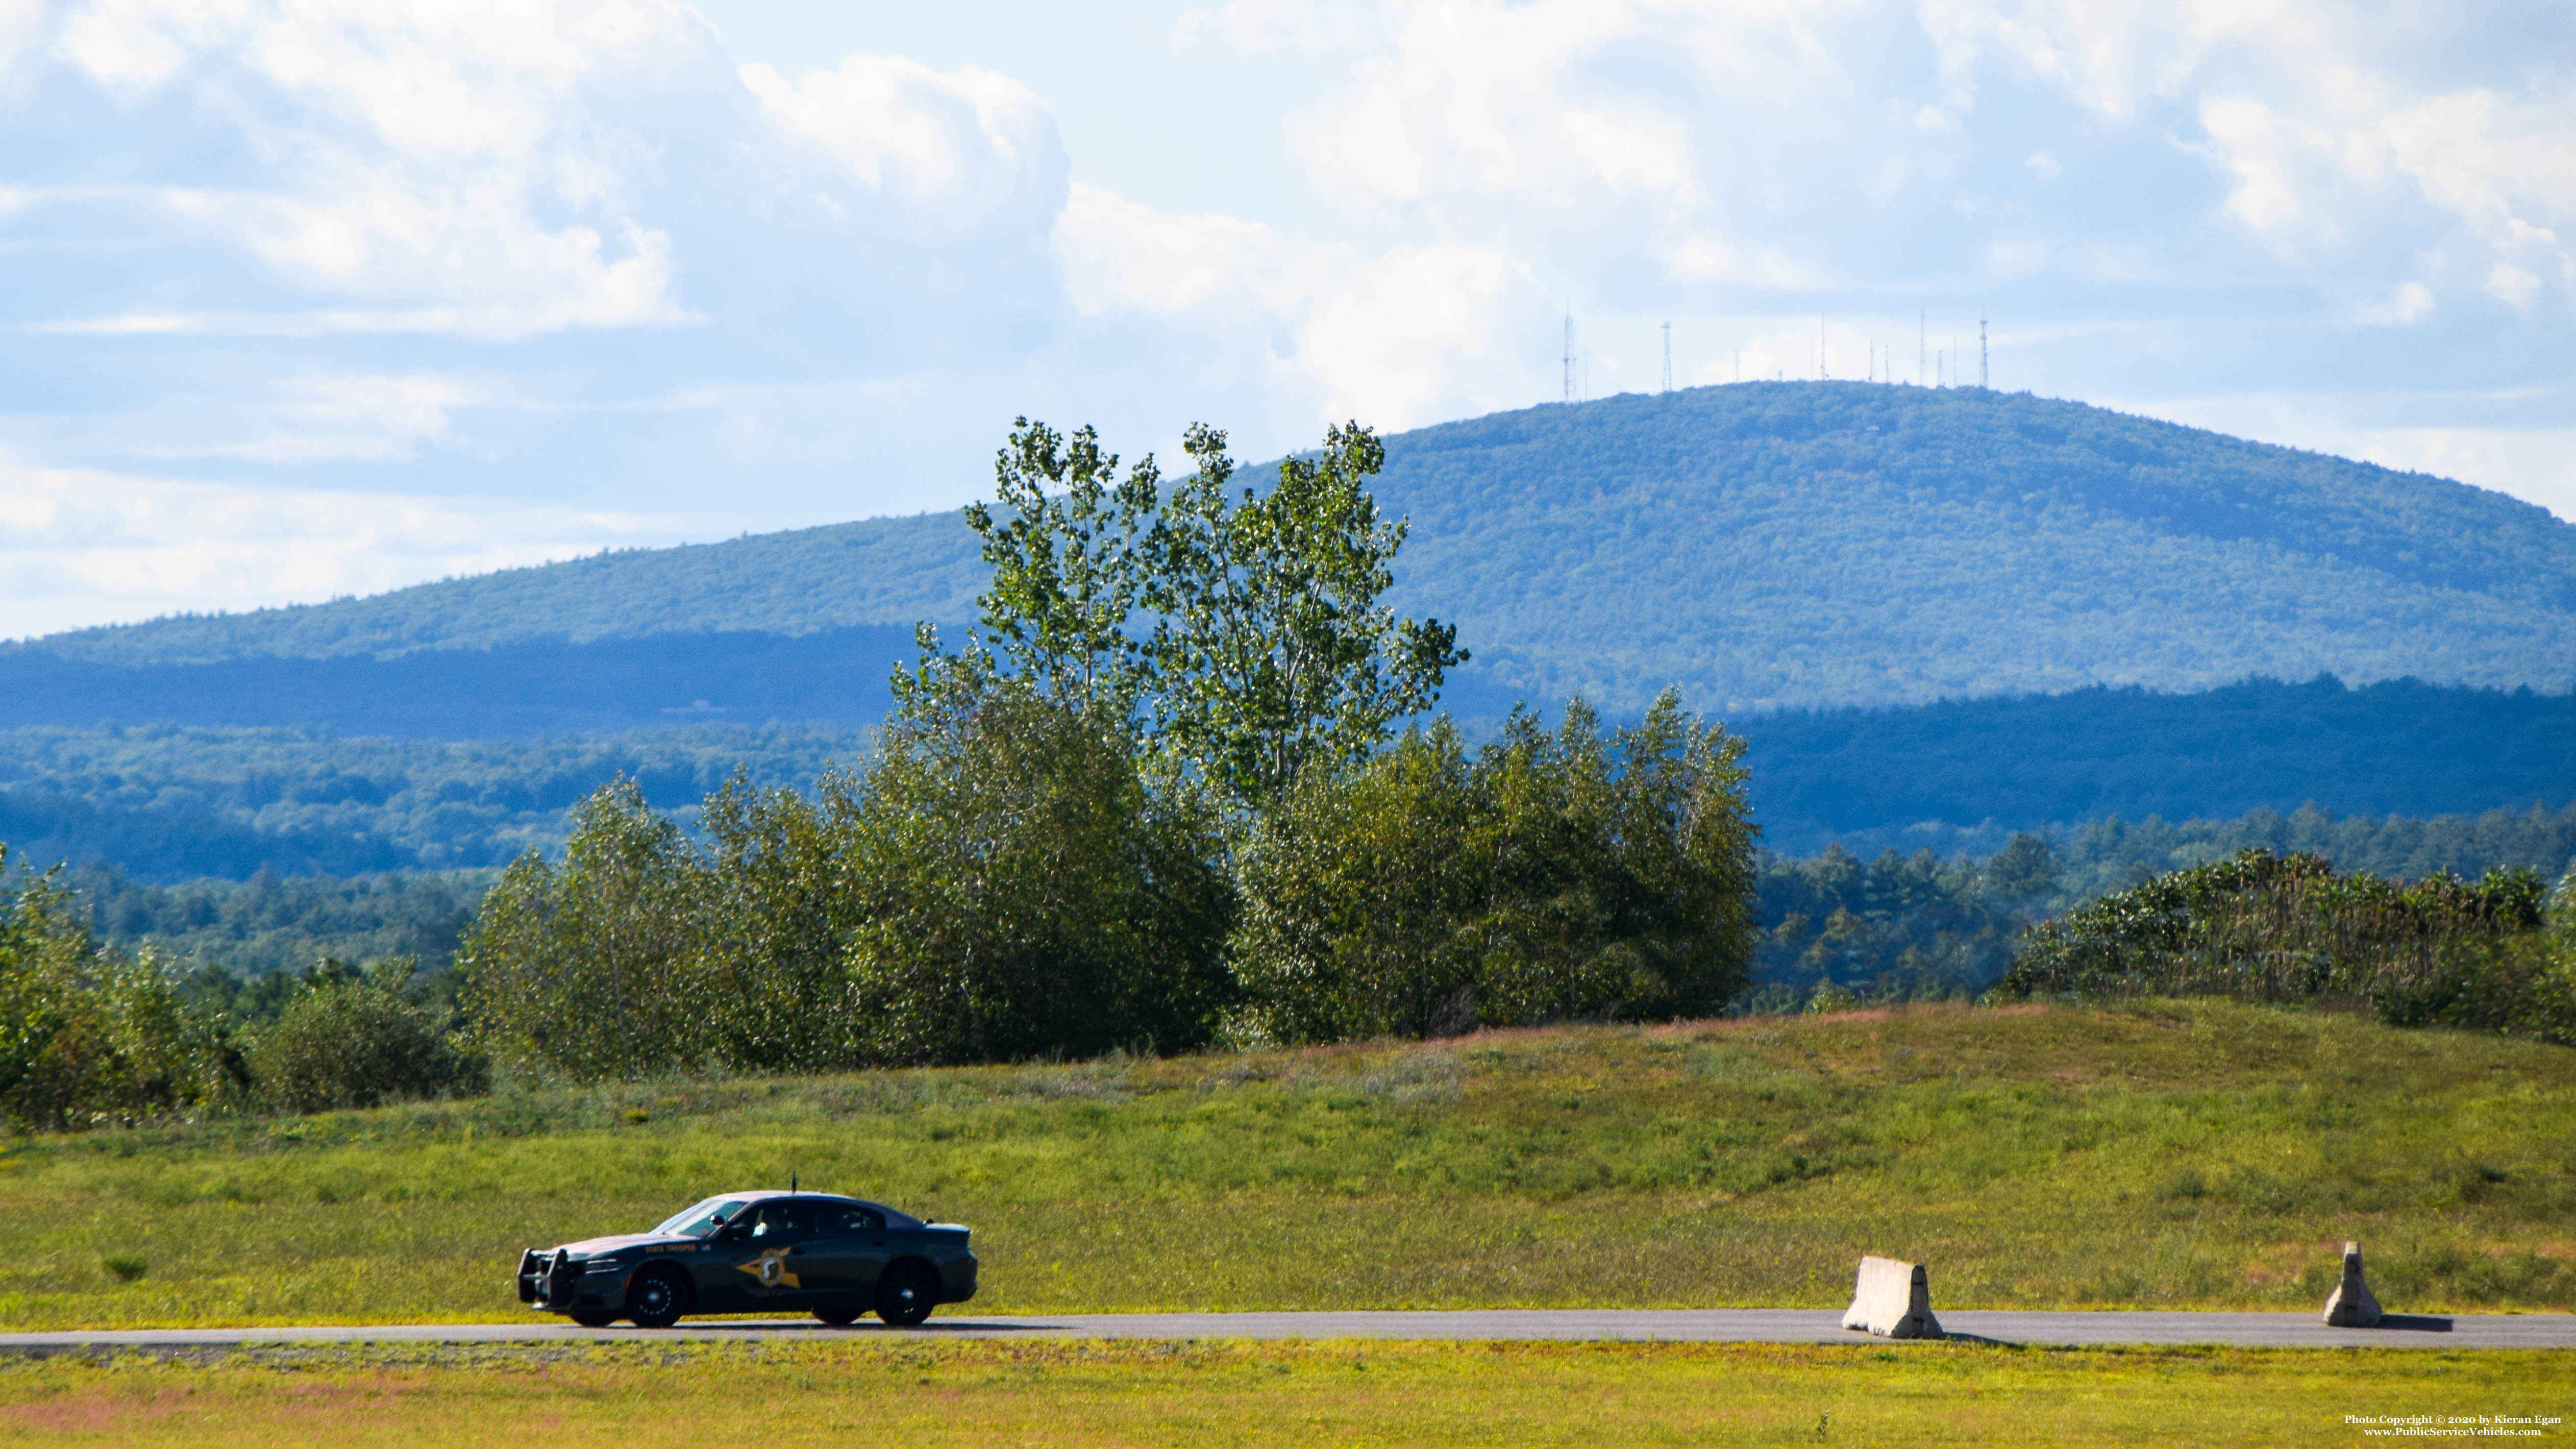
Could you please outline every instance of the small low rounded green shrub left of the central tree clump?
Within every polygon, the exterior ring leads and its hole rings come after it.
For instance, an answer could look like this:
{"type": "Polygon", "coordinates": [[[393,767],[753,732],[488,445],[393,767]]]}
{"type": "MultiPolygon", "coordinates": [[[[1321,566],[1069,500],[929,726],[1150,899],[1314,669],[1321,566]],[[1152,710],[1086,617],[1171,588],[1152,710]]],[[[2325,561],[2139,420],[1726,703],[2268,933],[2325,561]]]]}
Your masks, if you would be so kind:
{"type": "Polygon", "coordinates": [[[286,1011],[250,1039],[250,1078],[281,1111],[479,1096],[489,1067],[448,1039],[443,1013],[410,998],[410,957],[355,972],[322,962],[286,1011]]]}

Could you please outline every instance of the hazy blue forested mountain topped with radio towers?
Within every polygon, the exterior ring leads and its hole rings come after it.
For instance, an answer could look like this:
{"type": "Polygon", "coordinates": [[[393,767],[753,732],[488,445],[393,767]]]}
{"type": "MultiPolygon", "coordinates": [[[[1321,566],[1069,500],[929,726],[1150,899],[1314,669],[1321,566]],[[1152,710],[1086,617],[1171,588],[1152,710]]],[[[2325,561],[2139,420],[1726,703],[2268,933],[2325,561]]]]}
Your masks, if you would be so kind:
{"type": "MultiPolygon", "coordinates": [[[[1731,384],[1528,407],[1388,438],[1378,498],[1412,516],[1396,603],[1461,624],[1479,709],[1582,688],[1628,712],[1667,683],[1744,714],[2246,676],[2576,681],[2576,526],[2548,511],[2027,394],[1731,384]]],[[[54,634],[13,647],[8,678],[116,665],[39,694],[116,704],[88,719],[219,722],[198,704],[260,694],[250,676],[167,665],[471,650],[443,676],[464,706],[502,694],[464,683],[477,668],[541,673],[510,650],[626,639],[616,668],[652,676],[667,652],[677,678],[703,634],[961,621],[976,578],[956,516],[878,518],[54,634]]],[[[350,727],[335,699],[407,676],[330,678],[294,722],[350,727]]],[[[760,719],[781,696],[744,670],[708,688],[652,709],[703,696],[760,719]]]]}

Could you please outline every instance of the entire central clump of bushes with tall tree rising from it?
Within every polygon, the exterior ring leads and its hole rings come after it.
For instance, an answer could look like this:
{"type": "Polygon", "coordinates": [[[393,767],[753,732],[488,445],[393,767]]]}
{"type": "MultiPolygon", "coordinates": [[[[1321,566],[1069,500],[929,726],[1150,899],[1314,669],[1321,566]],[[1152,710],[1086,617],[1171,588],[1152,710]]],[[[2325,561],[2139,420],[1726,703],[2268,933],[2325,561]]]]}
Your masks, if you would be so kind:
{"type": "Polygon", "coordinates": [[[1404,521],[1334,428],[1242,487],[1020,423],[866,766],[732,781],[701,838],[629,784],[459,957],[513,1067],[811,1070],[1710,1013],[1752,969],[1741,743],[1672,696],[1468,748],[1466,650],[1381,601],[1404,521]],[[1417,719],[1399,730],[1399,722],[1417,719]]]}

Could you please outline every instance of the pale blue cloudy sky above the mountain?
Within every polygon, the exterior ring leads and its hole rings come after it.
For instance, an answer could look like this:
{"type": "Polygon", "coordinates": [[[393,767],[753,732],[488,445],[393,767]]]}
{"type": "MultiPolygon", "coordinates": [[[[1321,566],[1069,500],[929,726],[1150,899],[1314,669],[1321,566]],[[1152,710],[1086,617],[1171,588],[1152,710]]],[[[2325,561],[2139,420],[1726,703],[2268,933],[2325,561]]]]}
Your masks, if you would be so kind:
{"type": "Polygon", "coordinates": [[[0,637],[1517,407],[1569,307],[2576,518],[2563,3],[0,0],[0,637]]]}

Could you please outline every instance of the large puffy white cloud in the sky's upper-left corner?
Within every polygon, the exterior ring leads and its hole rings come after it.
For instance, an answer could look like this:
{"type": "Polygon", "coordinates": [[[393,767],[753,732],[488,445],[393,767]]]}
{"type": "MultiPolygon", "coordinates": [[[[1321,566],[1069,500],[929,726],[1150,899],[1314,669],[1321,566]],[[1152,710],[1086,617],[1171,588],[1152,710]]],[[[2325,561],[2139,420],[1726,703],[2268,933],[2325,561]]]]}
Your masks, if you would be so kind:
{"type": "Polygon", "coordinates": [[[621,95],[721,75],[685,5],[95,0],[54,54],[137,119],[175,101],[204,139],[237,147],[242,183],[44,201],[124,199],[240,248],[286,297],[394,304],[425,330],[507,340],[688,317],[670,235],[639,211],[649,119],[621,95]]]}

